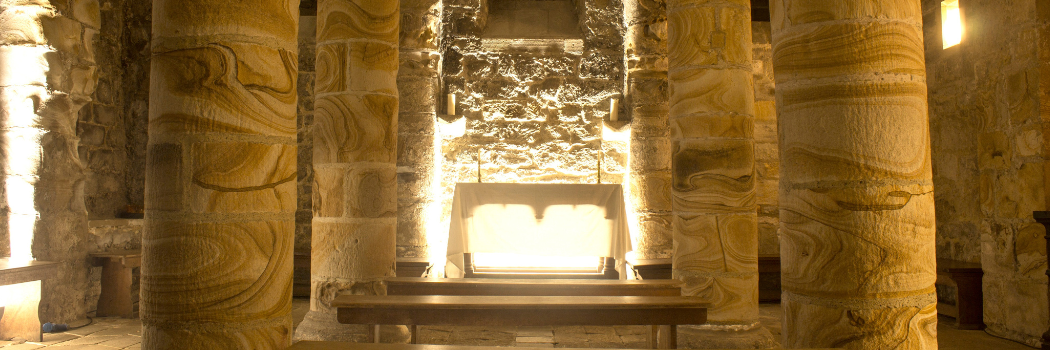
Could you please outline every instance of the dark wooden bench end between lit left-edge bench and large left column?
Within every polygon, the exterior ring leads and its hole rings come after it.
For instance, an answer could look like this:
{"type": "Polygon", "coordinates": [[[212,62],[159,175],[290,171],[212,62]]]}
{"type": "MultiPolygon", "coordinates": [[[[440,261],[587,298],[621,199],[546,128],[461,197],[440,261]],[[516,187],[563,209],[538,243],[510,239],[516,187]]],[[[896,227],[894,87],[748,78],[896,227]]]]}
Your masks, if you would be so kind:
{"type": "Polygon", "coordinates": [[[142,250],[90,253],[92,265],[102,266],[102,292],[94,315],[134,317],[131,298],[132,270],[142,266],[142,250]]]}

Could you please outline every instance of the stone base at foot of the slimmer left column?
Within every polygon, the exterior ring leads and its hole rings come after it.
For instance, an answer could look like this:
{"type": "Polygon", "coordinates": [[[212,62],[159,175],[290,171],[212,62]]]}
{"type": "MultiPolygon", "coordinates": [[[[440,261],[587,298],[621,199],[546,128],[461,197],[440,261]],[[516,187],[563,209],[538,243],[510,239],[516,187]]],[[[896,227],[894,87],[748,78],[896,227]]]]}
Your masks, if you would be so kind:
{"type": "MultiPolygon", "coordinates": [[[[364,343],[368,334],[366,325],[343,325],[332,312],[311,310],[295,328],[294,339],[313,342],[350,342],[364,343]]],[[[379,338],[382,343],[406,344],[410,341],[408,328],[405,326],[382,326],[379,328],[379,338]]]]}

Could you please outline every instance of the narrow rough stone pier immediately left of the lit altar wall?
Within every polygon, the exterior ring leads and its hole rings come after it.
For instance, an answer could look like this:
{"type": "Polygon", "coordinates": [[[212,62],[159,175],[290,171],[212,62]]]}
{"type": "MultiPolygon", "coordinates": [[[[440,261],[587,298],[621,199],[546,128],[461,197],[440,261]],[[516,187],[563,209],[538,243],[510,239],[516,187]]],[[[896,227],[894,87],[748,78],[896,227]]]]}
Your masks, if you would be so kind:
{"type": "MultiPolygon", "coordinates": [[[[401,0],[401,55],[397,85],[398,108],[398,226],[397,256],[428,255],[427,224],[440,222],[434,193],[437,167],[435,138],[438,101],[443,100],[439,65],[441,54],[440,0],[401,0]],[[436,211],[435,211],[436,210],[436,211]]],[[[445,247],[434,247],[444,249],[445,247]]],[[[444,261],[443,254],[435,256],[444,261]]]]}

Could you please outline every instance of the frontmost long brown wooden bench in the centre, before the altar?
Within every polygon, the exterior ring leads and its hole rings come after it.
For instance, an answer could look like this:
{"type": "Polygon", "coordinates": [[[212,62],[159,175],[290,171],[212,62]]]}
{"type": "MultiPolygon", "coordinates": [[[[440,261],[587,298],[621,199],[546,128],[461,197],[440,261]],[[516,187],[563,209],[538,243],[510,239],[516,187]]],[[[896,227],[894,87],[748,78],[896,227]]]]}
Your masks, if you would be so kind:
{"type": "Polygon", "coordinates": [[[341,324],[418,326],[651,326],[652,348],[677,348],[677,325],[701,325],[710,304],[696,296],[339,295],[341,324]]]}

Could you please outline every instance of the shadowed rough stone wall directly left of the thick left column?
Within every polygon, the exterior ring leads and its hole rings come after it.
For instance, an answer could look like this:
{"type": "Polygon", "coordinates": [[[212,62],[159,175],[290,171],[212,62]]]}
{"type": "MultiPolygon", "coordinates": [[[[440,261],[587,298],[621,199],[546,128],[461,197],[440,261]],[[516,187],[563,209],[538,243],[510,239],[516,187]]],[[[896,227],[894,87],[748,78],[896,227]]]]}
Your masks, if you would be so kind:
{"type": "Polygon", "coordinates": [[[92,220],[117,218],[129,205],[142,208],[152,1],[104,0],[98,7],[101,26],[92,50],[99,84],[77,123],[92,220]]]}

